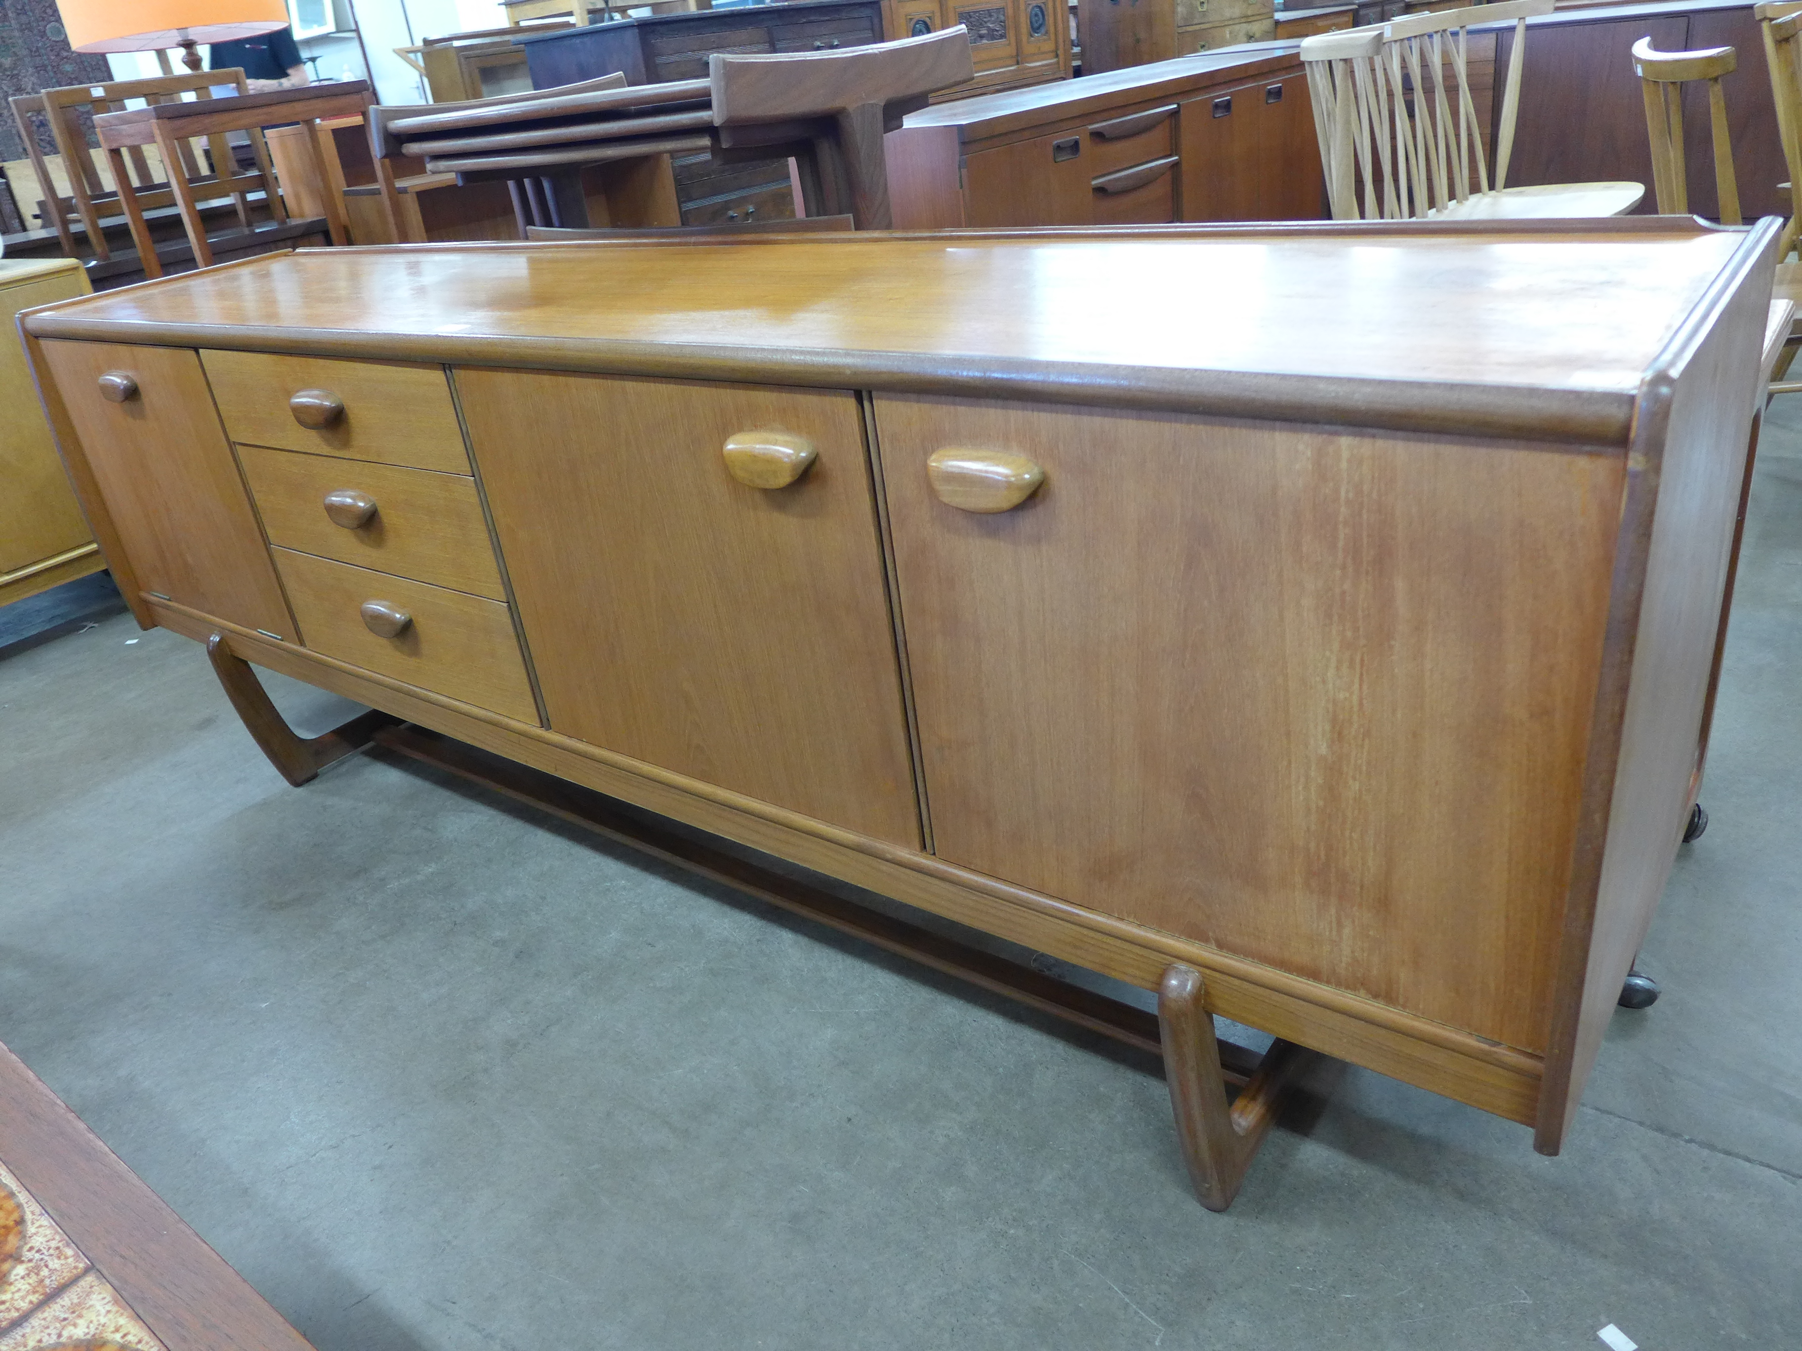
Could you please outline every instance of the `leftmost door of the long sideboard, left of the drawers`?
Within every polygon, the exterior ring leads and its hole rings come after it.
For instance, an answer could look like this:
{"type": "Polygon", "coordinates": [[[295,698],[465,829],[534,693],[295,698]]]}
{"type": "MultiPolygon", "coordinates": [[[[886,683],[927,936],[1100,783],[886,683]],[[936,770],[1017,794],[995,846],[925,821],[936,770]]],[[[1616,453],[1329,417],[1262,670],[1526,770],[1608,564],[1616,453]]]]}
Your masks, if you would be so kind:
{"type": "Polygon", "coordinates": [[[139,585],[294,639],[200,357],[187,348],[45,342],[43,358],[139,585]],[[123,376],[128,396],[105,398],[101,376],[123,376]]]}

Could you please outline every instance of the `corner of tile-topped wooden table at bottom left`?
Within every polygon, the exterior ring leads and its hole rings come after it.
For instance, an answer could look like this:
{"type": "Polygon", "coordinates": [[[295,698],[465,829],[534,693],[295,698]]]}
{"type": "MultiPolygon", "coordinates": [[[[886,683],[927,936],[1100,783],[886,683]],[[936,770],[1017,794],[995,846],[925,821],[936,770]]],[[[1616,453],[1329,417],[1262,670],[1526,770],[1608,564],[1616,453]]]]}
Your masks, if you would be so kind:
{"type": "Polygon", "coordinates": [[[312,1351],[5,1047],[0,1340],[20,1351],[312,1351]]]}

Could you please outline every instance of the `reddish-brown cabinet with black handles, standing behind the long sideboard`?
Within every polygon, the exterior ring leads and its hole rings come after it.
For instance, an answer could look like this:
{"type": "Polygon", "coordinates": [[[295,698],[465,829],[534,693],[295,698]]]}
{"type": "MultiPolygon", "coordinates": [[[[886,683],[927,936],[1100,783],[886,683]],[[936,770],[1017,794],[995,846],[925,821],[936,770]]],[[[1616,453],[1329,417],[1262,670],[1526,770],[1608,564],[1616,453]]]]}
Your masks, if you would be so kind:
{"type": "Polygon", "coordinates": [[[926,108],[885,151],[901,229],[1326,214],[1296,43],[926,108]]]}

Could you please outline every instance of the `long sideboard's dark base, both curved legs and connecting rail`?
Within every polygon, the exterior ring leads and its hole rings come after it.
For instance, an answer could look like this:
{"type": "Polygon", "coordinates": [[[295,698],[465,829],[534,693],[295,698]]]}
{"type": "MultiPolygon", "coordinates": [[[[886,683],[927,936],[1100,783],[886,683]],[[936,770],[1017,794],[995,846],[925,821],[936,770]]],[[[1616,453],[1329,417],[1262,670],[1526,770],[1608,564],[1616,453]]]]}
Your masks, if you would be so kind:
{"type": "Polygon", "coordinates": [[[387,713],[362,713],[335,731],[301,739],[270,703],[250,665],[232,654],[223,634],[213,634],[207,656],[250,739],[294,787],[310,782],[323,767],[351,751],[380,746],[883,951],[1160,1056],[1182,1158],[1197,1196],[1209,1210],[1225,1210],[1233,1203],[1258,1146],[1281,1110],[1283,1093],[1317,1057],[1288,1041],[1276,1041],[1260,1056],[1216,1038],[1202,973],[1180,962],[1164,973],[1153,1018],[1135,1005],[768,870],[629,811],[604,793],[387,713]],[[1240,1090],[1231,1102],[1227,1084],[1240,1090]]]}

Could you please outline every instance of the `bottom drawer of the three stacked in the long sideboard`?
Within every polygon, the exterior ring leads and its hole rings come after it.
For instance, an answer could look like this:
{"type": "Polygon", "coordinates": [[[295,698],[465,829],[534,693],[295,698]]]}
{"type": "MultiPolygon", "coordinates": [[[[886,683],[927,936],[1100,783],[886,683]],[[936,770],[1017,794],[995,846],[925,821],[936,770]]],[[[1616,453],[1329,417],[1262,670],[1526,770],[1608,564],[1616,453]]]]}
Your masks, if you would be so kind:
{"type": "Polygon", "coordinates": [[[278,548],[274,555],[314,652],[521,722],[539,722],[514,616],[501,602],[310,553],[278,548]],[[362,618],[368,602],[402,611],[405,627],[395,638],[371,632],[362,618]]]}

